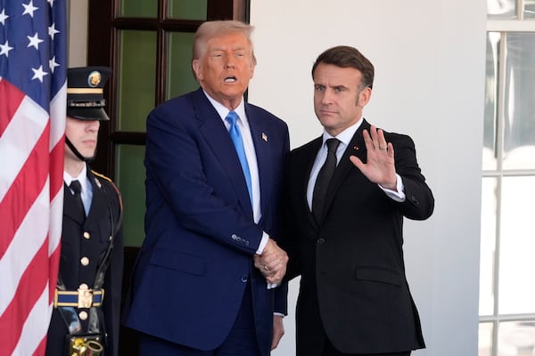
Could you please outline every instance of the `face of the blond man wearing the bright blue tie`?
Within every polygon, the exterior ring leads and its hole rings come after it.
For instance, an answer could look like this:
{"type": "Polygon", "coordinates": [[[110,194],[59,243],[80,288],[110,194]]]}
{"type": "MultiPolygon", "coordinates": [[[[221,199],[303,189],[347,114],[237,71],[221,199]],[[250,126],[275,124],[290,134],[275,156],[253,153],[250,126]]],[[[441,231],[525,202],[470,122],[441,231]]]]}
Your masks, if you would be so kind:
{"type": "Polygon", "coordinates": [[[251,43],[240,33],[210,38],[206,52],[193,60],[193,70],[206,93],[234,109],[254,73],[251,43]]]}

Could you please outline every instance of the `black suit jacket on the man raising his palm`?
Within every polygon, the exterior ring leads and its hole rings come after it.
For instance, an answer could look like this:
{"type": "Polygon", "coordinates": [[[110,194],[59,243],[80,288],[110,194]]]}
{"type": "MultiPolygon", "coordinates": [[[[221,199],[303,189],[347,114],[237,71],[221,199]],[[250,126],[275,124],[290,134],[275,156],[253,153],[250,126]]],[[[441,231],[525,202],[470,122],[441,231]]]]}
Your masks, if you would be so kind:
{"type": "Polygon", "coordinates": [[[322,138],[292,150],[284,181],[282,245],[290,255],[288,279],[300,275],[297,306],[298,355],[319,355],[324,335],[344,353],[403,352],[423,348],[415,303],[403,262],[403,217],[432,214],[432,192],[406,135],[387,134],[407,199],[388,198],[350,162],[366,162],[358,128],[333,174],[325,216],[316,223],[307,204],[309,174],[322,138]],[[325,334],[322,331],[325,328],[325,334]]]}

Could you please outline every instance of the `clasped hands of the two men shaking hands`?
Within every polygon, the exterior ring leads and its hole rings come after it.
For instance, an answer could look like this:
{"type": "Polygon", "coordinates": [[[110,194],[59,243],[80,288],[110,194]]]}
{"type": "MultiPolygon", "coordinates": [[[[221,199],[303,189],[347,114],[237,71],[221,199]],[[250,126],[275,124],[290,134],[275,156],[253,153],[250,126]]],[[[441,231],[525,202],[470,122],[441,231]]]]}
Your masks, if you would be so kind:
{"type": "Polygon", "coordinates": [[[270,284],[279,285],[282,282],[287,263],[288,255],[276,245],[274,239],[268,239],[262,255],[254,255],[254,266],[270,284]]]}

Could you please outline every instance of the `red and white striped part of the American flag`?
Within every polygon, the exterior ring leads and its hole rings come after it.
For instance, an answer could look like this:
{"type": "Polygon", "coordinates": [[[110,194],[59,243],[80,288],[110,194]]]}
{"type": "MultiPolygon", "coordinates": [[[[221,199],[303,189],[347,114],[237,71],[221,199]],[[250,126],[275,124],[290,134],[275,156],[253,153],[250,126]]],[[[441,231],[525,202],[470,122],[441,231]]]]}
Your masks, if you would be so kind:
{"type": "Polygon", "coordinates": [[[60,257],[66,85],[50,114],[0,77],[0,355],[44,355],[60,257]]]}

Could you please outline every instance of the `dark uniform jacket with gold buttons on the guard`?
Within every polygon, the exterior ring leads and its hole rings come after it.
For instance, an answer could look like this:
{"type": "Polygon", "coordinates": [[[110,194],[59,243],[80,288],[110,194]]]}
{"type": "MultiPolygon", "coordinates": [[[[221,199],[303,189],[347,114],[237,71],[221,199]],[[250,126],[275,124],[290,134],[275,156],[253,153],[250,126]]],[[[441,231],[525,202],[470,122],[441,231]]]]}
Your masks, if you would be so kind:
{"type": "MultiPolygon", "coordinates": [[[[103,303],[101,307],[95,307],[95,310],[105,335],[105,356],[116,356],[119,346],[123,269],[123,237],[120,228],[122,204],[119,190],[109,178],[91,172],[87,167],[87,179],[93,186],[93,200],[87,217],[79,214],[75,197],[69,187],[63,187],[62,255],[58,277],[62,280],[65,290],[76,291],[83,283],[89,288],[95,287],[97,269],[110,247],[112,237],[110,264],[103,283],[103,303]]],[[[86,333],[90,318],[84,320],[84,317],[90,314],[90,309],[74,310],[81,321],[81,332],[86,333]]],[[[54,308],[48,328],[46,355],[64,355],[65,338],[68,335],[69,331],[61,313],[54,308]]]]}

